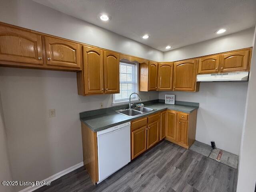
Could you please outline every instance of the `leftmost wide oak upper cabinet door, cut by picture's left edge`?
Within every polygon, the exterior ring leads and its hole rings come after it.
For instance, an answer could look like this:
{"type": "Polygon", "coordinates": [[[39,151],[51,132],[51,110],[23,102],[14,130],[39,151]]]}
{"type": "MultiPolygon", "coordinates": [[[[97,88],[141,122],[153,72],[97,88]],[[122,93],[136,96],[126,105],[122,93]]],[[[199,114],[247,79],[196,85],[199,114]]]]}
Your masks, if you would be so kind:
{"type": "Polygon", "coordinates": [[[42,57],[41,35],[0,25],[0,60],[43,65],[42,57]]]}

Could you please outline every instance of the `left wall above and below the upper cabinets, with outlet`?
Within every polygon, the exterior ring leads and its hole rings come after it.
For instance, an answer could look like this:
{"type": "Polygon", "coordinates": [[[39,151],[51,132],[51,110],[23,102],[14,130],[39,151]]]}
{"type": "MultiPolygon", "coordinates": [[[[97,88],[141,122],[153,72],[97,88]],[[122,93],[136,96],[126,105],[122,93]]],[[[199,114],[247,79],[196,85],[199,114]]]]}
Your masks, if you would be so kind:
{"type": "MultiPolygon", "coordinates": [[[[158,50],[31,0],[0,1],[0,21],[142,58],[163,59],[158,50]]],[[[43,180],[83,161],[79,112],[98,109],[100,102],[112,106],[112,95],[78,96],[75,72],[0,67],[0,82],[13,180],[43,180]],[[48,116],[52,108],[55,118],[48,116]]],[[[141,94],[143,100],[158,99],[158,92],[141,94]]]]}

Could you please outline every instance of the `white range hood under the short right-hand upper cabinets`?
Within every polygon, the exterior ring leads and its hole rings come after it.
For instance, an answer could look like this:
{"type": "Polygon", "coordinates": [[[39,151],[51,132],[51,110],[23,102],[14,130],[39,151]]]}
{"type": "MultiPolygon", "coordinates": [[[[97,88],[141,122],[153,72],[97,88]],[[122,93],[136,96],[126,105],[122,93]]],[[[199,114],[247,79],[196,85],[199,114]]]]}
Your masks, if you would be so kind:
{"type": "Polygon", "coordinates": [[[196,76],[196,81],[248,81],[248,76],[249,72],[202,74],[196,76]]]}

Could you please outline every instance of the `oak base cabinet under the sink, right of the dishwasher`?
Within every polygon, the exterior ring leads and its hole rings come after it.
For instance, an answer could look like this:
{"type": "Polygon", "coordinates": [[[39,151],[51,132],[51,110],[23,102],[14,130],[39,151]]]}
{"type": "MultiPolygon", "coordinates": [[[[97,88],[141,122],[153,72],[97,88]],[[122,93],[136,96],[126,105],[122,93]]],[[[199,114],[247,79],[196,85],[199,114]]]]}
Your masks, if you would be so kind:
{"type": "Polygon", "coordinates": [[[131,156],[136,158],[160,141],[160,113],[131,122],[131,156]]]}

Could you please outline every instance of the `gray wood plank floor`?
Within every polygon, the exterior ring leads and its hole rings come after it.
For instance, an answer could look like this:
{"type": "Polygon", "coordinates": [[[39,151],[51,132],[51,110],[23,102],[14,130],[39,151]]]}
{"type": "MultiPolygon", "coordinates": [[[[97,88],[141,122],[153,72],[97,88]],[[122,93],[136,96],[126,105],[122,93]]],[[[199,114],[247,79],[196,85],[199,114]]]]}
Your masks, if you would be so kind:
{"type": "Polygon", "coordinates": [[[94,186],[83,167],[35,192],[235,192],[237,170],[162,141],[94,186]]]}

